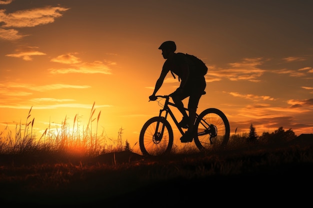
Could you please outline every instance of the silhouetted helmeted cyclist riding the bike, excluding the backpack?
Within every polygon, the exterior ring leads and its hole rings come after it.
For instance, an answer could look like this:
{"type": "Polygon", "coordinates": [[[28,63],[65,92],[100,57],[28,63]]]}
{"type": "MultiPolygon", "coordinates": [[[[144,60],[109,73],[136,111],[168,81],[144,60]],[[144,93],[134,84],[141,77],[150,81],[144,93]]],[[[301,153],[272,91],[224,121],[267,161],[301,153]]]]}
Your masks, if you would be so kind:
{"type": "Polygon", "coordinates": [[[162,86],[164,78],[169,71],[173,76],[174,74],[178,76],[180,85],[171,94],[171,97],[182,114],[182,120],[179,122],[179,126],[187,129],[185,134],[180,138],[180,141],[183,143],[191,142],[193,139],[192,131],[196,108],[206,87],[205,78],[204,76],[192,73],[193,68],[191,67],[190,60],[186,58],[183,53],[175,53],[176,44],[174,41],[165,41],[158,47],[158,49],[162,50],[162,56],[166,60],[163,64],[161,74],[155,83],[154,91],[152,95],[149,96],[149,99],[156,100],[155,94],[162,86]],[[183,109],[184,106],[182,103],[182,100],[187,97],[189,97],[187,107],[189,115],[187,115],[187,112],[183,109]]]}

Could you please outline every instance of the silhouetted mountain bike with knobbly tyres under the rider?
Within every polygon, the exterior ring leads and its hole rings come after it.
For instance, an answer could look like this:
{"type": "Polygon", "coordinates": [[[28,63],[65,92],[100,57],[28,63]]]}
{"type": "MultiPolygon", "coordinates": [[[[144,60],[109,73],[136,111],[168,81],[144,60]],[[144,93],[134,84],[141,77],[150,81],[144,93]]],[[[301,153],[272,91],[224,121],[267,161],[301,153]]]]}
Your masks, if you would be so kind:
{"type": "MultiPolygon", "coordinates": [[[[171,96],[157,95],[156,97],[157,99],[165,99],[165,102],[162,109],[159,110],[159,115],[148,119],[141,128],[139,148],[144,156],[160,156],[170,153],[174,137],[172,127],[167,120],[168,115],[181,135],[184,135],[184,131],[179,127],[170,107],[177,108],[173,102],[169,101],[171,96]],[[165,115],[162,115],[164,113],[165,115]]],[[[184,109],[188,111],[187,108],[184,109]]],[[[224,147],[228,143],[229,134],[229,122],[222,111],[216,108],[207,108],[200,114],[196,114],[193,141],[200,151],[209,150],[213,146],[224,147]]]]}

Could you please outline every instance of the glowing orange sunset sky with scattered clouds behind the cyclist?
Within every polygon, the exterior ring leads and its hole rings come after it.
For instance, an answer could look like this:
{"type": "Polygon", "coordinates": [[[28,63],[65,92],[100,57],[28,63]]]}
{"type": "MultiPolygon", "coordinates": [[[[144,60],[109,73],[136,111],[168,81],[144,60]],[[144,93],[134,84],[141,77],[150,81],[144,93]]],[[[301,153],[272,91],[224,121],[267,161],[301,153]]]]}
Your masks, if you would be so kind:
{"type": "MultiPolygon", "coordinates": [[[[157,48],[173,40],[209,68],[198,112],[222,110],[231,134],[251,123],[258,135],[313,133],[312,8],[309,0],[0,0],[0,132],[25,122],[31,106],[39,136],[65,116],[71,126],[78,114],[83,126],[95,102],[99,132],[116,140],[122,128],[132,147],[158,114],[148,102],[164,62],[157,48]]],[[[168,74],[157,94],[178,85],[168,74]]]]}

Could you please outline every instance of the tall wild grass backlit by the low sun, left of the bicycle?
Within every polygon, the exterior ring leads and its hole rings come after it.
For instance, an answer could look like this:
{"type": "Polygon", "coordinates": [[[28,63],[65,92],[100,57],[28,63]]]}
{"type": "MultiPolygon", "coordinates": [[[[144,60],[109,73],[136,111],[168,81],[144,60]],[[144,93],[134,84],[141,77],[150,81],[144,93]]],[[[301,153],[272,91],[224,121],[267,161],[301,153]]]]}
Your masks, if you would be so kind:
{"type": "Polygon", "coordinates": [[[80,121],[78,114],[75,115],[73,126],[69,127],[68,119],[65,116],[61,122],[60,128],[51,129],[51,123],[45,129],[43,134],[37,138],[33,131],[34,118],[31,120],[31,110],[28,112],[25,122],[16,124],[15,133],[8,126],[4,132],[0,132],[0,154],[34,154],[34,153],[58,153],[65,155],[96,156],[106,152],[113,152],[117,148],[115,144],[109,144],[109,138],[106,138],[103,131],[98,132],[99,118],[101,111],[95,115],[95,102],[90,110],[88,123],[80,130],[80,121]],[[94,124],[95,123],[95,124],[94,124]],[[94,126],[95,125],[95,126],[94,126]],[[95,130],[95,133],[94,133],[95,130]]]}

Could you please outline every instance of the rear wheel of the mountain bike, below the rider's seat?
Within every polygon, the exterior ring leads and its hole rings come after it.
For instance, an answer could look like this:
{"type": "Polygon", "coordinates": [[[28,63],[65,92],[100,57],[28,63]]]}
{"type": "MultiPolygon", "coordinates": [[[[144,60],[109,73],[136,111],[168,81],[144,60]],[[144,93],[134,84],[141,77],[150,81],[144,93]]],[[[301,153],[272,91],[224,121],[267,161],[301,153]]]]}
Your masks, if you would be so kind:
{"type": "Polygon", "coordinates": [[[216,108],[201,112],[194,124],[197,133],[194,143],[200,151],[224,147],[229,140],[230,127],[227,117],[216,108]]]}

